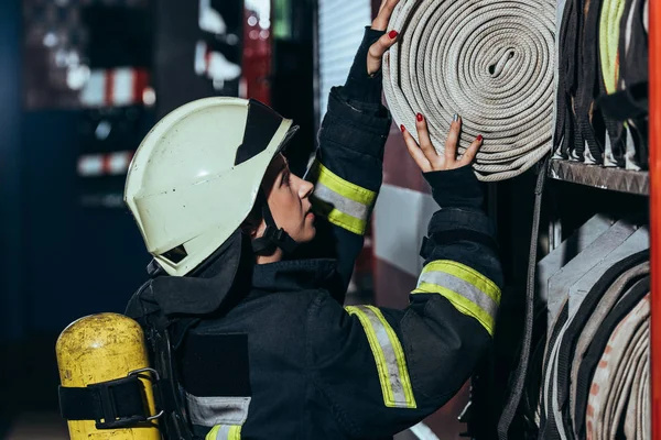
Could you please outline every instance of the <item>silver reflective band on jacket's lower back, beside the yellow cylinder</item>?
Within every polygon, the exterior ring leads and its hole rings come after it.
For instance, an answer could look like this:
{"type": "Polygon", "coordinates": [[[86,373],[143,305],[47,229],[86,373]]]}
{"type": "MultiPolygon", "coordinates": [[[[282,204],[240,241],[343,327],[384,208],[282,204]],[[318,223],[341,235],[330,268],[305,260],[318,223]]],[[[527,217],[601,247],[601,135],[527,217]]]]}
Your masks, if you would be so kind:
{"type": "Polygon", "coordinates": [[[193,425],[243,425],[248,418],[250,397],[197,397],[186,393],[193,425]]]}

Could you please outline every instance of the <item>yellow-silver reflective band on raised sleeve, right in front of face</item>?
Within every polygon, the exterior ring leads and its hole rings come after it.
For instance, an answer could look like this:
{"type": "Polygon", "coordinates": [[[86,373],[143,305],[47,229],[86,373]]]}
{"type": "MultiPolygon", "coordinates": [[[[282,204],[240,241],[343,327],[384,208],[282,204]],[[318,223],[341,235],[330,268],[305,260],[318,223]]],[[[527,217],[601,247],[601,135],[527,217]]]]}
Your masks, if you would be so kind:
{"type": "Polygon", "coordinates": [[[330,223],[362,235],[377,194],[343,179],[318,161],[311,175],[315,183],[312,201],[317,212],[330,223]]]}

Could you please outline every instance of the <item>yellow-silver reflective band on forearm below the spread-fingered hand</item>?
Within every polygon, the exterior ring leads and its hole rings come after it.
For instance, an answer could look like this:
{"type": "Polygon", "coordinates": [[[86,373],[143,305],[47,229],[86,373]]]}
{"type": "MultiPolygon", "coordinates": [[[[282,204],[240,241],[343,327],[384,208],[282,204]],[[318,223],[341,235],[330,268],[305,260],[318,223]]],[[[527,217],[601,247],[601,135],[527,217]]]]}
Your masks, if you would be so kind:
{"type": "Polygon", "coordinates": [[[474,268],[453,261],[432,262],[422,270],[413,294],[444,296],[458,311],[477,319],[494,336],[500,288],[474,268]]]}

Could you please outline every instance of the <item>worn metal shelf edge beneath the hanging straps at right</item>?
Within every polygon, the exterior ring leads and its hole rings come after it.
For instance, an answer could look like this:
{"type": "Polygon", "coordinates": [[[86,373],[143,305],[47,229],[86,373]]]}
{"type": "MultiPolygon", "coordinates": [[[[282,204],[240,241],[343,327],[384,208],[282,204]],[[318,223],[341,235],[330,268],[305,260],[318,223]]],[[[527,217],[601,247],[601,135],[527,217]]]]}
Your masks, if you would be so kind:
{"type": "Polygon", "coordinates": [[[650,194],[648,172],[635,172],[622,168],[605,168],[599,165],[585,165],[564,160],[551,161],[551,178],[587,185],[613,191],[647,196],[650,194]]]}

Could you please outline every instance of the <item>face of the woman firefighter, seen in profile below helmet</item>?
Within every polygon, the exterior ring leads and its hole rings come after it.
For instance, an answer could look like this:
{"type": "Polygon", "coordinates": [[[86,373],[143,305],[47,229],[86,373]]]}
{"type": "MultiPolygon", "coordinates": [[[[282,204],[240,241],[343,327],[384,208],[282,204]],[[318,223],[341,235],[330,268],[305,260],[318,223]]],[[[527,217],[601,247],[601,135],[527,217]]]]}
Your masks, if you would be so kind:
{"type": "Polygon", "coordinates": [[[271,161],[262,187],[275,224],[297,243],[312,241],[316,233],[310,201],[314,185],[292,174],[286,160],[279,154],[271,161]]]}

